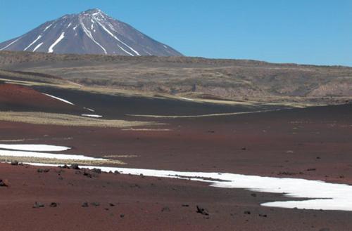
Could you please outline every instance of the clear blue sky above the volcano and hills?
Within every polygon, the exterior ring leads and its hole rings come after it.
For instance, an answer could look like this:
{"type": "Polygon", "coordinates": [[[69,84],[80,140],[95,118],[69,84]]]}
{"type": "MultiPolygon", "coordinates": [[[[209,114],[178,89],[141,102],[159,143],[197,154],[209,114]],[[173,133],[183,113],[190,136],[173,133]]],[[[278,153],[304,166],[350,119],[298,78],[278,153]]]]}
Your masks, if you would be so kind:
{"type": "Polygon", "coordinates": [[[352,0],[0,0],[0,41],[100,8],[184,55],[352,66],[352,0]]]}

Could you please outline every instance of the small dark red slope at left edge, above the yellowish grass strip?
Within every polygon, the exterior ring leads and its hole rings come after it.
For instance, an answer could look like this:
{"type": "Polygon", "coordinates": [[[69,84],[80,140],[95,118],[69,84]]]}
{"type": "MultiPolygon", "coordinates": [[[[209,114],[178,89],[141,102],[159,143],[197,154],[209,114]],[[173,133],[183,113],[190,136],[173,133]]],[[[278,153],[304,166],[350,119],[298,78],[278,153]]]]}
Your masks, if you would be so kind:
{"type": "Polygon", "coordinates": [[[74,112],[75,106],[16,84],[0,84],[0,110],[74,112]]]}

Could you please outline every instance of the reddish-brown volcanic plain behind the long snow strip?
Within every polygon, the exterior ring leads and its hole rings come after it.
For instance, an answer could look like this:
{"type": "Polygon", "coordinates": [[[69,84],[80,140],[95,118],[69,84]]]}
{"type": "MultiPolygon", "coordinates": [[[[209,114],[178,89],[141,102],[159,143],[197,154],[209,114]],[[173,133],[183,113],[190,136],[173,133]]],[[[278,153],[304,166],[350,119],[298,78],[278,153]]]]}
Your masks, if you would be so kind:
{"type": "MultiPolygon", "coordinates": [[[[132,119],[138,119],[136,117],[132,119]]],[[[152,119],[170,131],[0,122],[0,140],[125,158],[127,167],[308,178],[352,184],[352,105],[194,119],[152,119]],[[20,135],[19,135],[20,134],[20,135]]]]}

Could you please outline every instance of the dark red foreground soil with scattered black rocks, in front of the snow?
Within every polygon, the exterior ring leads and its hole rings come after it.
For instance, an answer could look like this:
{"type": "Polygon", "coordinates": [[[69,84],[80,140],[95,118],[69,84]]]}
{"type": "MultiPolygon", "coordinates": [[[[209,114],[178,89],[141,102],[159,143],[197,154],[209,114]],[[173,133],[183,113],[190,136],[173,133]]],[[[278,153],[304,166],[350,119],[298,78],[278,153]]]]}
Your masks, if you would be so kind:
{"type": "Polygon", "coordinates": [[[351,213],[258,206],[277,194],[188,180],[0,164],[1,230],[350,230],[351,213]],[[92,173],[92,172],[90,172],[92,173]],[[34,203],[43,204],[33,208],[34,203]],[[50,204],[55,202],[56,207],[50,204]],[[88,202],[88,207],[82,207],[88,202]],[[91,203],[95,203],[94,206],[91,203]],[[99,204],[99,206],[97,206],[99,204]],[[113,206],[111,206],[113,205],[113,206]],[[199,205],[209,216],[196,213],[199,205]],[[250,214],[248,214],[250,213],[250,214]]]}

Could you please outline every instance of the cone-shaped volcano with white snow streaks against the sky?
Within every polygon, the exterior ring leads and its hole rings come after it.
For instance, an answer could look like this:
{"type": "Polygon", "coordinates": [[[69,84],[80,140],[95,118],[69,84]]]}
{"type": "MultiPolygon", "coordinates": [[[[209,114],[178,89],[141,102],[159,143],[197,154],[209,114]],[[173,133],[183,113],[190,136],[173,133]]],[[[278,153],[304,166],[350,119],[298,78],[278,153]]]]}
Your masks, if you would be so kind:
{"type": "Polygon", "coordinates": [[[0,44],[0,51],[180,56],[181,53],[98,8],[63,15],[0,44]]]}

